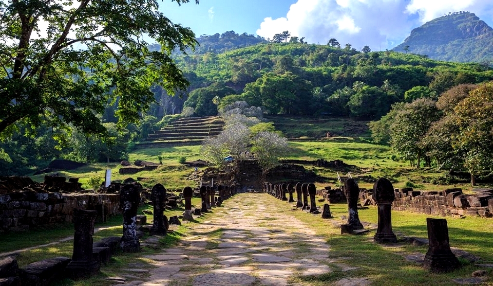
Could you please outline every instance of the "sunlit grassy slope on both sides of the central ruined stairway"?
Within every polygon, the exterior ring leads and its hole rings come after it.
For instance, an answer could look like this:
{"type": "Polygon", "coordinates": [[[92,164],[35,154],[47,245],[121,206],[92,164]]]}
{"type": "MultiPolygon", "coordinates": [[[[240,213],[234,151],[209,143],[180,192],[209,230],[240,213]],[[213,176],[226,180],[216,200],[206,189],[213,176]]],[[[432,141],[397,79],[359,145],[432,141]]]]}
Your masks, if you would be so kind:
{"type": "MultiPolygon", "coordinates": [[[[468,191],[471,187],[468,184],[443,184],[445,171],[438,171],[433,168],[416,169],[410,167],[406,162],[392,160],[392,151],[388,146],[370,144],[367,141],[348,137],[334,137],[316,141],[290,141],[289,156],[285,159],[301,160],[343,160],[348,164],[348,168],[334,169],[325,167],[305,166],[306,169],[314,171],[317,175],[325,177],[327,180],[316,182],[319,187],[326,185],[336,185],[337,173],[347,175],[350,172],[357,178],[361,187],[371,188],[378,177],[386,177],[394,187],[414,187],[423,190],[442,190],[449,187],[461,187],[468,191]],[[440,184],[439,184],[440,183],[440,184]]],[[[136,160],[146,160],[159,163],[161,156],[163,165],[155,171],[143,171],[134,175],[120,175],[120,164],[91,164],[87,167],[71,170],[59,171],[61,175],[67,177],[79,177],[79,182],[84,188],[91,188],[88,184],[91,177],[103,180],[105,169],[111,169],[112,180],[124,180],[127,177],[142,177],[142,184],[145,187],[152,187],[156,183],[163,184],[167,189],[183,189],[186,186],[196,186],[196,182],[187,180],[187,177],[194,173],[194,167],[187,167],[179,161],[185,158],[186,161],[193,161],[201,158],[200,146],[183,146],[171,148],[148,148],[138,149],[129,154],[129,162],[136,160]]],[[[202,169],[203,167],[199,168],[202,169]]],[[[42,182],[43,175],[33,176],[33,179],[42,182]]],[[[481,187],[481,186],[480,186],[481,187]]]]}

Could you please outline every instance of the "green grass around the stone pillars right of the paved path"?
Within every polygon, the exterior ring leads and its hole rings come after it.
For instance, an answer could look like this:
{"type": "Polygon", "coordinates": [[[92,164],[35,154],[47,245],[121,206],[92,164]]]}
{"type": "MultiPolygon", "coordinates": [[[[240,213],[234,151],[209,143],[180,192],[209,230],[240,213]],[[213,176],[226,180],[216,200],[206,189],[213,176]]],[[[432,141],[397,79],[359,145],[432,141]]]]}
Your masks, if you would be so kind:
{"type": "MultiPolygon", "coordinates": [[[[286,203],[278,200],[269,200],[274,208],[286,209],[286,203]]],[[[427,238],[426,214],[407,211],[392,211],[392,228],[400,240],[396,244],[377,244],[373,242],[376,229],[367,235],[341,235],[340,229],[334,222],[345,223],[342,216],[347,218],[347,204],[331,204],[334,219],[323,220],[320,216],[313,216],[302,211],[292,211],[296,219],[310,225],[316,235],[323,236],[329,244],[328,254],[337,259],[336,263],[345,263],[358,267],[356,270],[343,272],[335,267],[334,271],[320,276],[292,277],[292,283],[309,283],[313,286],[327,285],[345,277],[368,277],[373,285],[450,285],[451,279],[470,277],[478,267],[464,264],[459,270],[452,273],[430,274],[422,266],[405,260],[408,254],[425,254],[428,246],[412,246],[402,242],[403,236],[427,238]]],[[[377,223],[377,209],[370,206],[359,210],[362,222],[377,223]]],[[[433,217],[433,216],[432,216],[433,217]]],[[[442,218],[442,217],[435,217],[442,218]]],[[[487,237],[493,234],[493,221],[484,218],[467,217],[465,219],[446,218],[450,237],[450,246],[457,247],[481,258],[481,263],[491,263],[493,259],[493,245],[487,237]]],[[[366,227],[368,228],[368,227],[366,227]]],[[[464,261],[462,261],[464,262],[464,261]]],[[[334,268],[334,264],[330,265],[334,268]]],[[[487,270],[491,275],[491,270],[487,270]]],[[[493,282],[488,278],[486,282],[493,282]]]]}

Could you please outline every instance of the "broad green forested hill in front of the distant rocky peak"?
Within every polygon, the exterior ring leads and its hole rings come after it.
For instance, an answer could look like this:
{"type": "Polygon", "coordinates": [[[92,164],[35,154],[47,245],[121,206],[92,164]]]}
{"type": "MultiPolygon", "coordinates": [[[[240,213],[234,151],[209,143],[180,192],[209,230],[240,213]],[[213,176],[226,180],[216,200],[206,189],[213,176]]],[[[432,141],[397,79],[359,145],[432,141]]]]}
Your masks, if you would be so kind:
{"type": "Polygon", "coordinates": [[[350,44],[260,43],[175,60],[191,82],[184,106],[197,116],[216,115],[218,108],[243,100],[268,114],[377,119],[395,102],[437,98],[454,85],[493,79],[484,64],[357,51],[350,44]],[[220,103],[212,103],[216,96],[220,103]]]}

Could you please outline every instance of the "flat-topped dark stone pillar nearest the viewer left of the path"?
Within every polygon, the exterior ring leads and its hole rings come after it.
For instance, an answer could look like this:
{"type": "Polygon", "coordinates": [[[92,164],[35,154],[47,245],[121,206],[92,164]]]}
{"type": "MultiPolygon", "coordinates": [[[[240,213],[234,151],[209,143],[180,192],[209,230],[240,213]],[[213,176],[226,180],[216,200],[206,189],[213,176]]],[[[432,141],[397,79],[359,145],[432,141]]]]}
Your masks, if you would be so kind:
{"type": "Polygon", "coordinates": [[[87,278],[99,272],[99,261],[92,257],[92,236],[97,216],[96,210],[73,209],[73,254],[72,261],[65,268],[67,276],[73,280],[87,278]]]}

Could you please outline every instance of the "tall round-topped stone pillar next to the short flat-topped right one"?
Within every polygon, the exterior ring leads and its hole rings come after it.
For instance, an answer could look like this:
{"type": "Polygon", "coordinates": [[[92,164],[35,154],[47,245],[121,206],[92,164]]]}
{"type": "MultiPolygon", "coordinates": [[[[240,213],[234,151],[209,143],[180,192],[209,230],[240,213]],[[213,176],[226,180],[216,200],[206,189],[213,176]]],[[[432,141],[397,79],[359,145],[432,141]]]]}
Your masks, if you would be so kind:
{"type": "Polygon", "coordinates": [[[378,227],[373,240],[377,243],[397,242],[392,232],[390,211],[395,199],[392,183],[386,178],[379,178],[373,185],[373,198],[378,207],[378,227]]]}

